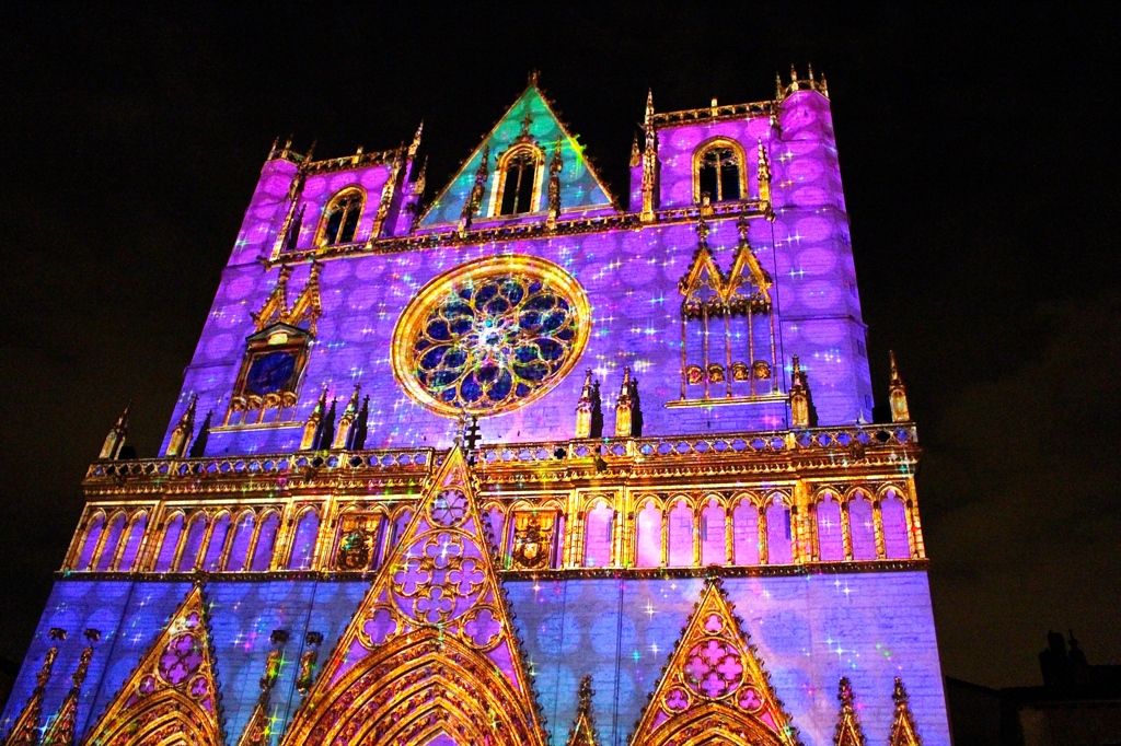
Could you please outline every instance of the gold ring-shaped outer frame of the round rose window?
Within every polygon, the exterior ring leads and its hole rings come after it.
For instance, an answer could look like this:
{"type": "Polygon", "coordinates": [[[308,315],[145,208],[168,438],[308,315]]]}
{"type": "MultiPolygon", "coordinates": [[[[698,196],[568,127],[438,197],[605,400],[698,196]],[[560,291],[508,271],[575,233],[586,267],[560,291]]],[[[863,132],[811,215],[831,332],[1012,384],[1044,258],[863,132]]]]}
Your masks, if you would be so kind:
{"type": "Polygon", "coordinates": [[[409,301],[397,319],[393,328],[393,343],[390,353],[390,362],[393,369],[393,377],[398,385],[415,402],[430,412],[441,417],[458,417],[461,408],[439,401],[423,385],[420,385],[413,372],[413,344],[428,318],[428,314],[438,304],[447,299],[453,283],[463,285],[482,280],[490,277],[506,276],[530,276],[544,281],[564,299],[572,304],[573,315],[576,320],[576,338],[572,342],[572,348],[564,365],[556,374],[546,379],[541,384],[521,399],[507,401],[495,407],[487,408],[464,408],[473,414],[498,414],[532,403],[552,391],[560,381],[572,372],[580,361],[587,346],[587,339],[592,332],[592,307],[587,300],[587,293],[576,279],[568,274],[563,268],[537,257],[525,254],[500,254],[490,257],[467,264],[455,267],[433,279],[428,285],[409,301]]]}

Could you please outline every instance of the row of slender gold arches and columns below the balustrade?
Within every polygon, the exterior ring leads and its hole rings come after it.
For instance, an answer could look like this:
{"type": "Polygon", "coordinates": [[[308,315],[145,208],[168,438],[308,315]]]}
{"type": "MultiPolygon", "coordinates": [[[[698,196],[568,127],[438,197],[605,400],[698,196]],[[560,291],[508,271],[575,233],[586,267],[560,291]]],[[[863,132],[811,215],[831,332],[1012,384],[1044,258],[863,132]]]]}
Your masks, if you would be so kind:
{"type": "MultiPolygon", "coordinates": [[[[548,567],[678,568],[921,559],[911,478],[767,491],[573,491],[488,498],[501,567],[512,562],[521,512],[556,516],[548,567]],[[884,506],[892,512],[886,525],[884,506]],[[854,513],[860,513],[854,525],[854,513]],[[677,522],[675,528],[675,521],[677,522]],[[780,523],[781,522],[781,523],[780,523]]],[[[91,504],[63,569],[102,572],[336,570],[343,519],[362,516],[374,569],[396,545],[415,498],[359,504],[344,496],[240,505],[91,504]]],[[[540,569],[540,568],[538,568],[540,569]]]]}

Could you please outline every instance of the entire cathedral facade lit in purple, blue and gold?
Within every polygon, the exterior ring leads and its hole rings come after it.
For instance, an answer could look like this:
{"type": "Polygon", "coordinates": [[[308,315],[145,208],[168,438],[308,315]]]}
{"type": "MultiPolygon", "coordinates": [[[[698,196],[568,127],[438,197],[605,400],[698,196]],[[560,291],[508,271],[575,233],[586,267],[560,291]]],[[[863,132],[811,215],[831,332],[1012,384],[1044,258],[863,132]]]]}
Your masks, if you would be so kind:
{"type": "Polygon", "coordinates": [[[536,77],[427,198],[420,139],[274,146],[4,743],[948,746],[824,78],[648,97],[626,206],[536,77]]]}

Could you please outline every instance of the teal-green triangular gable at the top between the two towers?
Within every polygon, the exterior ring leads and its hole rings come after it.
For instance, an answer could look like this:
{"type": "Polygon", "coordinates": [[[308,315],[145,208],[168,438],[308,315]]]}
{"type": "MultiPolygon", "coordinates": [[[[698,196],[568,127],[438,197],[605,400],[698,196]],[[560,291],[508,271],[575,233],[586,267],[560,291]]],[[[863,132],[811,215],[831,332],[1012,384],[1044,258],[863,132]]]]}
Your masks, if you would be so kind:
{"type": "MultiPolygon", "coordinates": [[[[488,179],[480,201],[482,207],[475,220],[485,220],[491,195],[498,184],[498,174],[494,168],[495,159],[501,158],[502,153],[526,132],[527,114],[530,116],[528,134],[532,138],[532,142],[545,151],[546,169],[549,159],[553,158],[556,143],[558,141],[560,143],[560,158],[564,162],[559,177],[562,215],[577,209],[610,208],[618,211],[614,198],[609,194],[592,165],[585,158],[584,147],[568,133],[537,84],[530,82],[526,91],[507,110],[494,129],[483,138],[471,157],[460,167],[458,172],[421,215],[420,229],[452,225],[460,222],[463,207],[474,187],[475,174],[479,171],[484,152],[489,155],[490,162],[487,164],[488,179]]],[[[547,201],[543,198],[543,212],[546,206],[547,201]]],[[[527,217],[544,220],[541,213],[518,216],[519,220],[527,217]]]]}

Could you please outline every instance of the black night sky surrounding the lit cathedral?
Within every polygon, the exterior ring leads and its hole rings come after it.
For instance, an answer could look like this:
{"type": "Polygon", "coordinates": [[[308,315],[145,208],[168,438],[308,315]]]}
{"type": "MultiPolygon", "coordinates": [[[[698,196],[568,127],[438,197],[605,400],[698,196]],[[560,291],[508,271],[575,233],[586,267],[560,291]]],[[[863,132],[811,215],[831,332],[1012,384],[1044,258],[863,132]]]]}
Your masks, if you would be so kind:
{"type": "Polygon", "coordinates": [[[423,119],[432,198],[539,69],[626,203],[648,87],[659,111],[761,101],[777,71],[812,62],[877,401],[893,348],[926,450],[945,672],[1039,683],[1046,632],[1067,627],[1091,663],[1121,663],[1121,12],[15,4],[0,10],[0,654],[21,660],[84,469],[130,399],[130,440],[156,454],[276,136],[326,158],[396,147],[423,119]]]}

